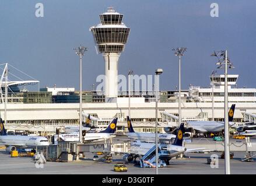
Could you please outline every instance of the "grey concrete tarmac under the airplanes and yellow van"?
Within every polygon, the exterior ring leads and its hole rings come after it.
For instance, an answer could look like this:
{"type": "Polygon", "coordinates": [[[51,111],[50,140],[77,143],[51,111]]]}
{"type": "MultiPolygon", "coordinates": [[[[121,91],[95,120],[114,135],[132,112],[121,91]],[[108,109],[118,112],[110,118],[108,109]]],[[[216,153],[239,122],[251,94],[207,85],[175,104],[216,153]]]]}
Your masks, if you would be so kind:
{"type": "MultiPolygon", "coordinates": [[[[224,174],[225,162],[220,154],[187,153],[185,158],[171,159],[169,166],[159,167],[159,174],[224,174]],[[219,156],[219,166],[215,169],[206,163],[212,154],[219,156]]],[[[234,152],[234,159],[230,161],[232,174],[256,174],[256,159],[255,162],[241,162],[244,155],[244,152],[234,152]]],[[[134,163],[126,164],[126,173],[115,172],[114,164],[124,162],[121,158],[121,155],[114,155],[112,163],[94,162],[93,153],[86,153],[86,157],[77,162],[47,162],[43,168],[37,168],[33,158],[11,158],[5,149],[0,149],[0,174],[155,174],[155,169],[141,168],[134,163]]]]}

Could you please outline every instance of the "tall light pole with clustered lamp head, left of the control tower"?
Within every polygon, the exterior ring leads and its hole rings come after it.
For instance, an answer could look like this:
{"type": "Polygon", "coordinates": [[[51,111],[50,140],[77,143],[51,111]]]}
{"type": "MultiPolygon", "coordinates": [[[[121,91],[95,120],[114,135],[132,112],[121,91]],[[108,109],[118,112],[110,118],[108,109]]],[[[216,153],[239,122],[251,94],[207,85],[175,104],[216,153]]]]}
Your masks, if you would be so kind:
{"type": "Polygon", "coordinates": [[[79,142],[82,141],[82,56],[87,51],[86,47],[74,48],[76,55],[80,56],[80,105],[79,105],[79,142]]]}

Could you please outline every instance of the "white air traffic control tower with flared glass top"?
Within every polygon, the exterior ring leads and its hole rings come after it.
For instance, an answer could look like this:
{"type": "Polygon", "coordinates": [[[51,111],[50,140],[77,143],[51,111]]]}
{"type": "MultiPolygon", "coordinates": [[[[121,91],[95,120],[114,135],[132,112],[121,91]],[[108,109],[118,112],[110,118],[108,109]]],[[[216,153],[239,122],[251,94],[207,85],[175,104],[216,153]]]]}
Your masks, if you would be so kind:
{"type": "Polygon", "coordinates": [[[105,60],[105,101],[116,102],[118,96],[118,59],[127,43],[130,28],[122,23],[122,16],[113,8],[100,15],[100,24],[90,27],[97,50],[105,60]]]}

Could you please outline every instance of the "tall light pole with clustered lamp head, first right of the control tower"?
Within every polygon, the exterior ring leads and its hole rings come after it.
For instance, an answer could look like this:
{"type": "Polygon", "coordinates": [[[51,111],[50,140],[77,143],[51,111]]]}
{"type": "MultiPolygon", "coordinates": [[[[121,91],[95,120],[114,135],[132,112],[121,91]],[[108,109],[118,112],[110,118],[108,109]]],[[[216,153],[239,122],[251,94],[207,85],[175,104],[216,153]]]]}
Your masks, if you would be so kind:
{"type": "Polygon", "coordinates": [[[181,123],[181,56],[184,56],[185,51],[187,48],[180,47],[173,49],[174,54],[178,56],[178,126],[181,123]]]}

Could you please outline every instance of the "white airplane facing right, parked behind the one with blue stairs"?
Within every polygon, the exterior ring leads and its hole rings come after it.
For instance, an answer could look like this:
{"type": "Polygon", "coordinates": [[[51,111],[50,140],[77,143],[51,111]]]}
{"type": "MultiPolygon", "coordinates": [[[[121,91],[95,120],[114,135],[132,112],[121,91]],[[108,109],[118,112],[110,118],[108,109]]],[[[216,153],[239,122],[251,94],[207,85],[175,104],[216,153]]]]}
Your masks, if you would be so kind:
{"type": "MultiPolygon", "coordinates": [[[[134,131],[134,128],[132,127],[132,123],[129,116],[127,116],[127,126],[129,130],[129,133],[127,133],[128,138],[139,140],[139,141],[155,141],[156,139],[155,133],[136,133],[134,131]]],[[[174,140],[176,138],[176,135],[174,134],[157,133],[157,135],[159,140],[174,140]]]]}

